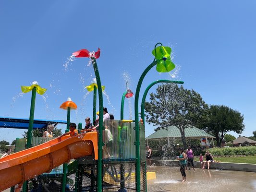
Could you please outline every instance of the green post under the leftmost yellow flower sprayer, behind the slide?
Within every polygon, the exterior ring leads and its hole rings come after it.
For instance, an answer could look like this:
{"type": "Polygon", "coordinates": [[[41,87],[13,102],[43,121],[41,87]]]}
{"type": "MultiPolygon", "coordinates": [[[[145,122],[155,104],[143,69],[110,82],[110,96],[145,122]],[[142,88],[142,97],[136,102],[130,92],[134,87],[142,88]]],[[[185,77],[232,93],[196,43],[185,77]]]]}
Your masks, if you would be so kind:
{"type": "MultiPolygon", "coordinates": [[[[34,123],[34,114],[35,114],[35,104],[36,104],[36,94],[37,88],[34,87],[32,89],[32,96],[31,96],[31,105],[30,105],[30,115],[29,115],[29,124],[28,124],[28,132],[27,132],[27,143],[26,148],[31,147],[32,142],[32,130],[33,130],[33,123],[34,123]]],[[[22,191],[27,192],[27,181],[23,183],[22,191]]]]}

